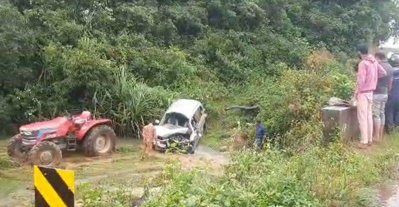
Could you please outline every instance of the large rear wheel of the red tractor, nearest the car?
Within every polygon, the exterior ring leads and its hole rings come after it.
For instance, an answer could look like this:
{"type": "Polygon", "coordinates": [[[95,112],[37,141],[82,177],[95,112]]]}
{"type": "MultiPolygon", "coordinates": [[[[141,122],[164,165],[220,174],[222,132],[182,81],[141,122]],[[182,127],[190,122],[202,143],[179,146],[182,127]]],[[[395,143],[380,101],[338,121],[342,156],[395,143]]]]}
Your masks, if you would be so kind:
{"type": "Polygon", "coordinates": [[[107,125],[93,128],[83,143],[86,155],[91,157],[110,154],[115,150],[115,145],[115,132],[107,125]]]}

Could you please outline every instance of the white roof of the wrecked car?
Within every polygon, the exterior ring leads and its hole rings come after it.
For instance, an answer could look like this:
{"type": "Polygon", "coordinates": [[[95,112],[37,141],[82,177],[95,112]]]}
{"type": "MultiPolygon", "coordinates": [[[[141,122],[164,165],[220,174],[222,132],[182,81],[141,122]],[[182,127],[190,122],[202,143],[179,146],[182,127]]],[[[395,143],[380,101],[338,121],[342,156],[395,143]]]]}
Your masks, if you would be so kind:
{"type": "Polygon", "coordinates": [[[202,104],[199,101],[191,99],[179,99],[169,107],[166,113],[180,113],[190,119],[200,106],[202,106],[202,104]]]}

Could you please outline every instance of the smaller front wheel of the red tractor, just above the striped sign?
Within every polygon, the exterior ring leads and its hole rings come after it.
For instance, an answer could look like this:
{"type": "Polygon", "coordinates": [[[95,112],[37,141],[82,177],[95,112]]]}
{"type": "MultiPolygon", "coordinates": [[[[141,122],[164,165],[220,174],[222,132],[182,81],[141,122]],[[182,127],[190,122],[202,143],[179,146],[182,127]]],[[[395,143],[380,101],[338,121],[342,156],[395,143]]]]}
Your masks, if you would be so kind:
{"type": "Polygon", "coordinates": [[[29,151],[29,162],[32,165],[55,167],[61,158],[61,149],[53,142],[40,142],[29,151]]]}

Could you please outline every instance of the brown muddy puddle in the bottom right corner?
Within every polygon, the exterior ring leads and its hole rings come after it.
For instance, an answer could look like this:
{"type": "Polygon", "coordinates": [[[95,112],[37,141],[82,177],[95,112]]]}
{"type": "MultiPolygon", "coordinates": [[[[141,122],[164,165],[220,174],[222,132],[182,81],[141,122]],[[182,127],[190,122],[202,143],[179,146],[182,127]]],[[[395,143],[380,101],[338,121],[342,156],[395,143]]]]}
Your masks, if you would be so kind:
{"type": "Polygon", "coordinates": [[[399,207],[399,182],[382,184],[378,195],[382,207],[399,207]]]}

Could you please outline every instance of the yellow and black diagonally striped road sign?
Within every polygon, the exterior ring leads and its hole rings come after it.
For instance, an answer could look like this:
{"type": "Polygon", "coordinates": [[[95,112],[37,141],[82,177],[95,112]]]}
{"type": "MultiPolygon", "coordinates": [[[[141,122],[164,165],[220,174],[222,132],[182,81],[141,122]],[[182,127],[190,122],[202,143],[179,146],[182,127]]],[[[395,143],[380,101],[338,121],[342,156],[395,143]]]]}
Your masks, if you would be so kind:
{"type": "Polygon", "coordinates": [[[35,207],[73,207],[73,171],[34,166],[35,207]]]}

